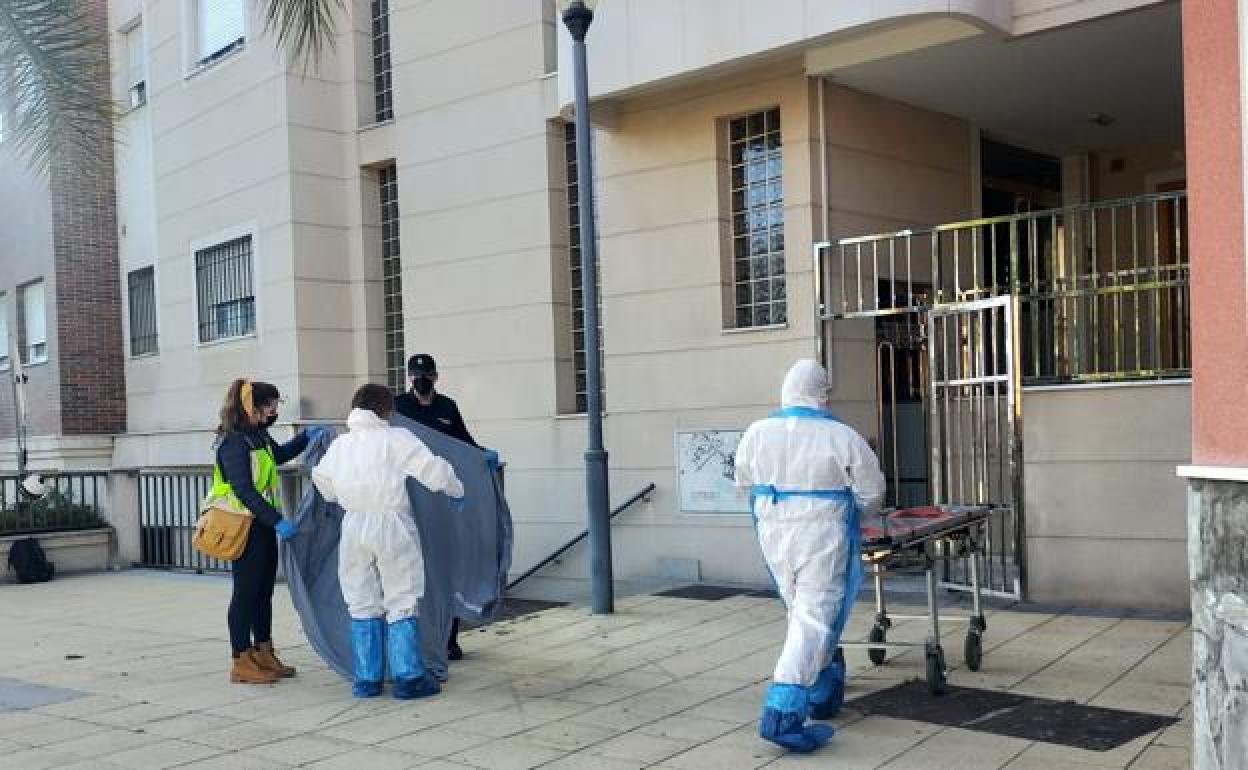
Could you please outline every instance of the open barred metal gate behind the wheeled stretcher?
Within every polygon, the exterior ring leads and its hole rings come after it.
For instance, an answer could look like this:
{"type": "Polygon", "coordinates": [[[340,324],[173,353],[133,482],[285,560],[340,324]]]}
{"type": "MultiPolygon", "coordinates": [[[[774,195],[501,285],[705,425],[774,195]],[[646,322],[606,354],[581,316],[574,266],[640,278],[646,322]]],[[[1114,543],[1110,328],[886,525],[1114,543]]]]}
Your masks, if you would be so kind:
{"type": "MultiPolygon", "coordinates": [[[[1015,367],[1013,297],[934,307],[929,313],[932,502],[992,505],[982,582],[1022,598],[1022,411],[1015,367]]],[[[947,563],[946,563],[947,564],[947,563]]],[[[950,588],[968,584],[950,565],[950,588]]]]}

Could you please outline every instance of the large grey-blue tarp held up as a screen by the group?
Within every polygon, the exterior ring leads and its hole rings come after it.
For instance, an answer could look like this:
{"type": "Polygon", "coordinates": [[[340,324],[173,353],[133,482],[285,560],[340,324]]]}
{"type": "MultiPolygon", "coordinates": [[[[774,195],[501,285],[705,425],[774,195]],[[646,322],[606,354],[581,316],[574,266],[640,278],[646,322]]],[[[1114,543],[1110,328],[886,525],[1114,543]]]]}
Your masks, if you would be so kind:
{"type": "MultiPolygon", "coordinates": [[[[484,452],[401,416],[394,416],[391,424],[416,433],[434,454],[447,458],[464,484],[464,509],[456,513],[444,495],[414,479],[407,483],[424,557],[424,599],[419,608],[424,664],[446,680],[452,619],[482,623],[502,605],[512,565],[512,513],[484,452]]],[[[314,467],[329,441],[310,446],[305,464],[314,467]]],[[[308,483],[296,523],[298,535],[282,548],[291,600],[312,649],[349,679],[351,616],[338,587],[342,509],[327,503],[308,483]]]]}

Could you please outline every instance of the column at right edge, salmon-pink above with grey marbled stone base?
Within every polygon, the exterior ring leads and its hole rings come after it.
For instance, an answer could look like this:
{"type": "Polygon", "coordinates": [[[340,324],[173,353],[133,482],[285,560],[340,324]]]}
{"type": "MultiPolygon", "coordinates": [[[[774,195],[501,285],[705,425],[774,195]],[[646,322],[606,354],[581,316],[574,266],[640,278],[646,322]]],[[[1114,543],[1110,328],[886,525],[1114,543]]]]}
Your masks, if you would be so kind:
{"type": "Polygon", "coordinates": [[[1192,765],[1248,769],[1248,291],[1241,0],[1183,4],[1192,255],[1192,765]]]}

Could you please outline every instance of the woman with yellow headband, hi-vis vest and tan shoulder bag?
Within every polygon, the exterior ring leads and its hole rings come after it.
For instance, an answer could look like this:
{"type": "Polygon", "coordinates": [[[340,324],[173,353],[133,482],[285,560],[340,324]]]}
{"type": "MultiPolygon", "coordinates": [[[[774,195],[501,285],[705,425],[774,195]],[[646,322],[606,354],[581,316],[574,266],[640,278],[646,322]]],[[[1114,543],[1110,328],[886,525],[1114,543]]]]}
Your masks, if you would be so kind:
{"type": "Polygon", "coordinates": [[[277,580],[277,538],[295,537],[295,522],[281,513],[277,467],[298,457],[323,428],[302,432],[278,444],[268,434],[277,422],[281,393],[267,382],[236,379],[226,392],[217,426],[213,493],[230,494],[256,518],[247,545],[232,563],[230,680],[270,684],[293,676],[295,669],[273,651],[273,584],[277,580]]]}

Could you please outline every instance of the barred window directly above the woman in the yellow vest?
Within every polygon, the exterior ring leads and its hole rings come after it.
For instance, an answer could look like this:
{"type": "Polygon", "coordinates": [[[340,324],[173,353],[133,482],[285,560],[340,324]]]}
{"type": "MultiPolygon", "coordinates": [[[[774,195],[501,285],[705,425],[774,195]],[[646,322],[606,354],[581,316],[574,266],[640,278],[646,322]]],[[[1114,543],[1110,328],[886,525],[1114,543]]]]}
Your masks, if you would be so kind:
{"type": "Polygon", "coordinates": [[[251,236],[195,252],[200,342],[256,333],[251,236]]]}

